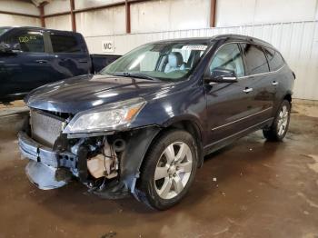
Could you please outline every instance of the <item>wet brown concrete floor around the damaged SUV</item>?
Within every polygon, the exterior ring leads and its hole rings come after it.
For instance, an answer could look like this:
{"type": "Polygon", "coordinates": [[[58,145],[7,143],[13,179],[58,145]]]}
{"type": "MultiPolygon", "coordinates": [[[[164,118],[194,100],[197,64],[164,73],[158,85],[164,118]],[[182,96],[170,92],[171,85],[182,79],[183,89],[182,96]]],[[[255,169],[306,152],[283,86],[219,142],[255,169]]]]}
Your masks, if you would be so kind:
{"type": "Polygon", "coordinates": [[[36,189],[6,126],[18,117],[0,119],[0,237],[318,237],[317,109],[293,113],[282,144],[258,132],[207,156],[184,201],[160,213],[78,183],[36,189]]]}

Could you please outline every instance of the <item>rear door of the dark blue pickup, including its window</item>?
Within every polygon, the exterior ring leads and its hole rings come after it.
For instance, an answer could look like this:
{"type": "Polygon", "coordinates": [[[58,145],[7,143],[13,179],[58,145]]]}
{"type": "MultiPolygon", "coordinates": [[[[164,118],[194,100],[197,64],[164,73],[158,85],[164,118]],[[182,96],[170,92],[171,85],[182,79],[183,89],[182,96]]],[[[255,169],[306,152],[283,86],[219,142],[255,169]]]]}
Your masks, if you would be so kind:
{"type": "Polygon", "coordinates": [[[92,63],[82,35],[62,31],[50,31],[48,34],[55,78],[65,79],[90,73],[92,63]]]}

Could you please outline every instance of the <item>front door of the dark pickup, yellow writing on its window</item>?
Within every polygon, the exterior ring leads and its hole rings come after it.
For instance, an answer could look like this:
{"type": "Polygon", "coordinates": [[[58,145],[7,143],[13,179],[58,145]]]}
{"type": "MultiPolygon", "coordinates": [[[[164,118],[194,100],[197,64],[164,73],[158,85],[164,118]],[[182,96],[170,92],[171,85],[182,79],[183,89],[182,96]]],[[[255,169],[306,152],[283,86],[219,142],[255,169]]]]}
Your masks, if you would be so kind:
{"type": "Polygon", "coordinates": [[[8,32],[4,43],[14,48],[0,59],[0,95],[17,97],[49,81],[49,55],[41,30],[16,29],[8,32]]]}

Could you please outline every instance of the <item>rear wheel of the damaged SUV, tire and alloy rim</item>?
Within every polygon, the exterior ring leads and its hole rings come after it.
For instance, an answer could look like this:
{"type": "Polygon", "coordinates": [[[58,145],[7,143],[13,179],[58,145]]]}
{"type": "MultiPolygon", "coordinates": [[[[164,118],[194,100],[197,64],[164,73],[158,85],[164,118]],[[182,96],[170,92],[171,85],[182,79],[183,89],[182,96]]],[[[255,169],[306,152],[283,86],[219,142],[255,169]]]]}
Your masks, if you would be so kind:
{"type": "Polygon", "coordinates": [[[287,100],[278,109],[270,128],[263,129],[263,136],[268,141],[281,142],[287,134],[291,117],[291,104],[287,100]]]}

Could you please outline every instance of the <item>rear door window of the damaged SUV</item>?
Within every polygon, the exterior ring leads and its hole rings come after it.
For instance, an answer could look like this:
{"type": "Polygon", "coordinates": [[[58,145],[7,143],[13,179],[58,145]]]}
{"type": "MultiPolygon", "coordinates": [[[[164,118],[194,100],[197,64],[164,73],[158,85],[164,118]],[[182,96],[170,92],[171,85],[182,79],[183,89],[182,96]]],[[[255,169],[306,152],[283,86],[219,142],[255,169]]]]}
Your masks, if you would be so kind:
{"type": "Polygon", "coordinates": [[[262,74],[269,72],[263,49],[257,45],[242,44],[245,55],[247,74],[262,74]]]}

